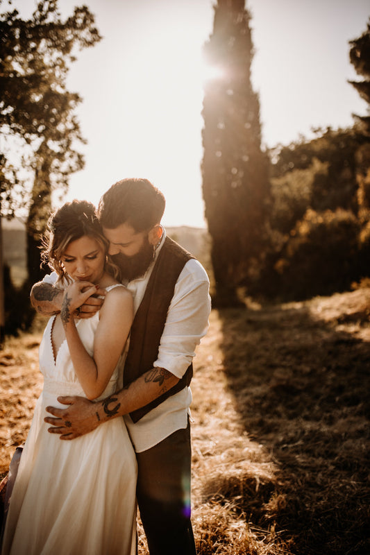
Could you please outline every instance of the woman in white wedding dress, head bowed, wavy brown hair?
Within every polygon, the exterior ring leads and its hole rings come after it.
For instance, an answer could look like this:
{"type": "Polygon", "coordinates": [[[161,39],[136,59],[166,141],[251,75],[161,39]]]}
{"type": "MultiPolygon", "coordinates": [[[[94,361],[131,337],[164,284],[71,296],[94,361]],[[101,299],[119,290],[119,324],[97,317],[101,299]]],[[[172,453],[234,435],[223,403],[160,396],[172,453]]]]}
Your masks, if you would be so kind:
{"type": "Polygon", "coordinates": [[[136,552],[137,469],[123,418],[74,441],[49,434],[43,420],[47,405],[63,406],[59,395],[98,400],[117,391],[133,300],[106,253],[92,204],[74,200],[51,216],[43,257],[65,292],[40,344],[44,388],[12,490],[1,555],[136,552]],[[101,289],[101,310],[79,319],[79,307],[101,289]]]}

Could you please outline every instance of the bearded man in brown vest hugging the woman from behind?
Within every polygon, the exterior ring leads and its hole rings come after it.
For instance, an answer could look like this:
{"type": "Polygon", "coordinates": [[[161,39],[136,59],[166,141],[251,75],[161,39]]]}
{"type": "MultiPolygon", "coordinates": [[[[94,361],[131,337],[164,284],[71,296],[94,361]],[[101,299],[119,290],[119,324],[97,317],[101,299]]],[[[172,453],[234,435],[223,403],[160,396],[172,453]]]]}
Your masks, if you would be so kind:
{"type": "MultiPolygon", "coordinates": [[[[150,554],[194,555],[190,380],[194,350],[208,327],[209,280],[201,264],[166,237],[164,210],[164,196],[145,179],[121,180],[101,198],[109,255],[134,298],[122,388],[98,402],[59,398],[66,409],[48,407],[53,416],[45,421],[53,426],[49,432],[73,440],[123,416],[137,456],[137,502],[150,554]]],[[[31,291],[42,314],[60,311],[62,293],[53,283],[51,274],[31,291]]],[[[90,298],[79,317],[92,316],[100,304],[90,298]]]]}

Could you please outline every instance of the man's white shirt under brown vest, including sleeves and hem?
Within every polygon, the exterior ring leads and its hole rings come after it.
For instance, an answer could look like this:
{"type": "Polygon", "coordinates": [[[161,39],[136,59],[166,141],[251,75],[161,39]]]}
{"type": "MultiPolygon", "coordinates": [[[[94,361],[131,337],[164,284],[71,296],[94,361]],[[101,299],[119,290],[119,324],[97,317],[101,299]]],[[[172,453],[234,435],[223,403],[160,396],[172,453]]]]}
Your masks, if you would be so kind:
{"type": "MultiPolygon", "coordinates": [[[[155,259],[164,244],[165,237],[165,230],[163,230],[155,259]]],[[[124,282],[133,294],[135,313],[144,297],[153,266],[154,263],[142,278],[124,282]]],[[[45,276],[44,282],[55,284],[56,273],[45,276]]],[[[183,377],[195,355],[196,346],[208,330],[210,309],[208,275],[196,259],[190,259],[178,276],[160,340],[158,358],[153,366],[165,368],[178,378],[183,377]]],[[[128,345],[125,350],[127,348],[128,345]]],[[[119,384],[120,388],[121,386],[122,382],[119,384]]],[[[135,424],[129,415],[124,416],[135,451],[146,451],[177,429],[186,428],[191,402],[192,392],[190,387],[185,386],[181,391],[161,402],[158,407],[146,413],[135,424]]]]}

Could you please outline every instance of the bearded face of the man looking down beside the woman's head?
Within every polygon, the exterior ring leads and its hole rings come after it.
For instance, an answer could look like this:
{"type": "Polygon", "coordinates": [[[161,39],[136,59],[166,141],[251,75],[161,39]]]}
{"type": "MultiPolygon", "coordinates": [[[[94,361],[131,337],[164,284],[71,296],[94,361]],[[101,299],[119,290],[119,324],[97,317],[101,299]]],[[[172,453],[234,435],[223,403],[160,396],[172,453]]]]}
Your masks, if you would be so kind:
{"type": "Polygon", "coordinates": [[[112,262],[121,270],[122,280],[140,278],[153,260],[151,233],[137,232],[128,223],[121,223],[117,228],[103,228],[109,241],[108,253],[112,262]]]}

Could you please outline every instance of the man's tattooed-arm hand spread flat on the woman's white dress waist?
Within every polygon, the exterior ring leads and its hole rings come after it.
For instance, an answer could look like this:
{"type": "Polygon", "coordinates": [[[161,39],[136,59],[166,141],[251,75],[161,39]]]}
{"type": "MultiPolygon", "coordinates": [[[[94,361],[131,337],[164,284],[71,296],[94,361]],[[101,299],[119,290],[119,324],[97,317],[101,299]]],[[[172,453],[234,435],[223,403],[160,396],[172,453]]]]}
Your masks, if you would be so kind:
{"type": "Polygon", "coordinates": [[[84,436],[99,426],[100,420],[96,412],[96,404],[85,397],[58,397],[58,401],[68,405],[65,409],[47,407],[53,416],[44,418],[51,424],[51,434],[60,434],[60,439],[68,440],[84,436]]]}

